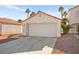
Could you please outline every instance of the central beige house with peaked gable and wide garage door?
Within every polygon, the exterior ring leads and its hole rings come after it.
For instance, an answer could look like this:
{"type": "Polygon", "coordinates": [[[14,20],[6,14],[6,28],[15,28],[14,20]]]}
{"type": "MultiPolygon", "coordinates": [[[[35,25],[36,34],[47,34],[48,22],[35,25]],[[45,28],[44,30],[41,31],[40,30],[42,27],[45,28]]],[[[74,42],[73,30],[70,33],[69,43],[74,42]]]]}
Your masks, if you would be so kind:
{"type": "Polygon", "coordinates": [[[23,26],[23,35],[26,36],[61,36],[60,19],[41,11],[38,11],[36,15],[26,19],[23,26]]]}

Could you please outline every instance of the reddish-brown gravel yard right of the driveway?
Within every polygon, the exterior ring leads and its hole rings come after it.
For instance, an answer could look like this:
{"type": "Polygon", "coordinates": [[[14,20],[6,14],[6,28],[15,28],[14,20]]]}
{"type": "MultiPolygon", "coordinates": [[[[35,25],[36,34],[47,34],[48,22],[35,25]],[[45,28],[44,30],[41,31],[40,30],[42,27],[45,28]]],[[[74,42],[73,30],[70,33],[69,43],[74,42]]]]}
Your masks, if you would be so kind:
{"type": "Polygon", "coordinates": [[[62,51],[66,54],[79,54],[79,39],[77,37],[74,36],[74,34],[62,35],[61,38],[57,39],[54,49],[62,51]]]}

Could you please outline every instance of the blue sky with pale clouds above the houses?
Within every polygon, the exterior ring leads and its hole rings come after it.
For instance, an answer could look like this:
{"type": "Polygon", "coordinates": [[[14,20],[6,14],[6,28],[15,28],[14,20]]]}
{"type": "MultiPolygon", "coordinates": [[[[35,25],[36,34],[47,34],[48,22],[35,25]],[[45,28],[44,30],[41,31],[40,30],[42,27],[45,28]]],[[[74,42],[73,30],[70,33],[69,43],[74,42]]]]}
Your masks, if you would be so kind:
{"type": "Polygon", "coordinates": [[[60,18],[60,13],[58,12],[60,6],[67,11],[74,7],[74,5],[0,5],[0,17],[24,20],[27,18],[25,10],[29,8],[34,12],[43,11],[60,18]]]}

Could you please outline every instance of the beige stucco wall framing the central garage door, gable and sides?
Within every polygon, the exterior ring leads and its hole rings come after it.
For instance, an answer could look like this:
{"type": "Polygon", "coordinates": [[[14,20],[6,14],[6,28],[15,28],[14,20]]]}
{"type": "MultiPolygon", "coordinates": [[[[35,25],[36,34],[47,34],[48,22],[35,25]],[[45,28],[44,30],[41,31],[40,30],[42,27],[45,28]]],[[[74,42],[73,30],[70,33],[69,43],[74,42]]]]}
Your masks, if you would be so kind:
{"type": "Polygon", "coordinates": [[[36,16],[34,17],[31,17],[30,19],[28,19],[27,21],[24,22],[24,24],[26,24],[24,26],[24,32],[23,33],[26,33],[28,34],[29,32],[29,25],[28,24],[31,24],[31,23],[49,23],[49,24],[53,24],[53,23],[57,23],[57,29],[55,31],[57,31],[57,36],[60,37],[61,36],[61,21],[57,18],[54,18],[54,17],[51,17],[51,16],[48,16],[48,15],[45,15],[43,13],[39,13],[37,14],[36,16]],[[41,16],[40,16],[41,14],[41,16]]]}

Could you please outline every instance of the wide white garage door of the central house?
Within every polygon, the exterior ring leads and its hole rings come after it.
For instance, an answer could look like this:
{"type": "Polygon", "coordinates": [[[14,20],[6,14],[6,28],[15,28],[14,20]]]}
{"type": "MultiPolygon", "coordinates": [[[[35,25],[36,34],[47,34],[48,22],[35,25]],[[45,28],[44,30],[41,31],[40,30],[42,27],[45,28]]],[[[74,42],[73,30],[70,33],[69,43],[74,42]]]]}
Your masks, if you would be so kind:
{"type": "Polygon", "coordinates": [[[29,24],[29,36],[57,37],[57,24],[29,24]]]}

